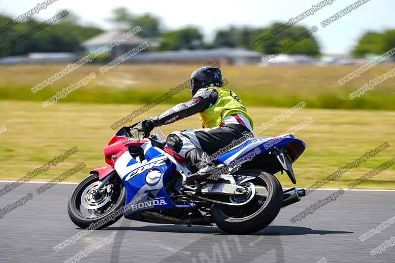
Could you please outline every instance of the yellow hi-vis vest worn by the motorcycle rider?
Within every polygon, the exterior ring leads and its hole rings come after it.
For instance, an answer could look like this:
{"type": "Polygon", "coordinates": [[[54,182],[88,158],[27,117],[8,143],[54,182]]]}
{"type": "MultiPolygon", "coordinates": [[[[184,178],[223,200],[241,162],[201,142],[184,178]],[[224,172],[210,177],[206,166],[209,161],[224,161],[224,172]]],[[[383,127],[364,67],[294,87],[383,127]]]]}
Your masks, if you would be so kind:
{"type": "Polygon", "coordinates": [[[218,92],[218,99],[213,106],[199,113],[203,128],[218,127],[225,117],[232,114],[243,114],[248,118],[252,127],[252,118],[235,92],[221,87],[210,88],[218,92]]]}

